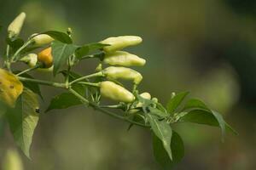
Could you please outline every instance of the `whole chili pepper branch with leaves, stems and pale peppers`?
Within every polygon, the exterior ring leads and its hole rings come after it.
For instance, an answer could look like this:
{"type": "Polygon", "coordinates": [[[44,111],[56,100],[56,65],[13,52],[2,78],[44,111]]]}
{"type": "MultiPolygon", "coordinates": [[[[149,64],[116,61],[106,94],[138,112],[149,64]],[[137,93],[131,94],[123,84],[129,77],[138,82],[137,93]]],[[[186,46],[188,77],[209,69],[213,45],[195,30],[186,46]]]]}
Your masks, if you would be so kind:
{"type": "Polygon", "coordinates": [[[221,114],[209,109],[201,100],[188,99],[184,103],[188,92],[172,93],[166,107],[149,93],[139,92],[143,76],[128,67],[143,66],[146,60],[122,50],[142,42],[141,37],[108,37],[80,46],[73,43],[72,31],[68,29],[67,32],[35,33],[24,41],[19,33],[25,18],[26,14],[21,13],[8,27],[7,48],[0,69],[0,107],[15,143],[27,157],[30,157],[32,135],[40,116],[38,97],[43,97],[40,93],[42,85],[66,90],[51,99],[45,112],[84,105],[128,122],[129,129],[134,125],[148,129],[152,133],[155,160],[164,169],[181,161],[184,154],[183,140],[172,129],[174,123],[195,122],[220,127],[223,138],[226,129],[235,132],[221,114]],[[35,54],[35,50],[41,52],[35,54]],[[73,66],[85,59],[96,59],[99,65],[88,75],[80,75],[73,66]],[[18,62],[25,63],[28,68],[16,71],[14,64],[18,62]],[[63,81],[34,78],[30,71],[51,71],[54,76],[61,74],[63,81]],[[130,81],[133,88],[125,88],[120,82],[123,80],[130,81]],[[113,100],[113,105],[104,104],[102,99],[105,98],[113,100]]]}

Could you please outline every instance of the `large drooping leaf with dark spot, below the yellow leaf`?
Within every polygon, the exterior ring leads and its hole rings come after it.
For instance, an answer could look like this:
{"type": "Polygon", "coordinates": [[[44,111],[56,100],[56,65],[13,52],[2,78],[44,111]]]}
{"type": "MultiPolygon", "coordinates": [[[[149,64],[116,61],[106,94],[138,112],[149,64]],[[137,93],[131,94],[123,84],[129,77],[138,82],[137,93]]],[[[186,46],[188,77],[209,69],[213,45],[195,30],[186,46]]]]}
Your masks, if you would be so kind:
{"type": "Polygon", "coordinates": [[[7,112],[9,127],[14,135],[15,143],[27,157],[30,157],[32,135],[38,124],[38,108],[37,95],[25,88],[15,108],[9,109],[7,112]]]}

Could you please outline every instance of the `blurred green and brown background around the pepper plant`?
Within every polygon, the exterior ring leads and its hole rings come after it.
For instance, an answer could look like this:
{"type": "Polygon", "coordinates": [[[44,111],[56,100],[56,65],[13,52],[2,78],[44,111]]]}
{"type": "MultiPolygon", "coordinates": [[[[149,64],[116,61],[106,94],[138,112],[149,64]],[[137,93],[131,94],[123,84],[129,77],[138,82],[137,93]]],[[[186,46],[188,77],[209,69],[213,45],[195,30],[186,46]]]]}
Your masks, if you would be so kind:
{"type": "MultiPolygon", "coordinates": [[[[127,49],[147,59],[147,65],[137,69],[143,73],[141,90],[164,104],[172,92],[188,90],[224,114],[240,133],[229,133],[223,144],[215,127],[176,126],[186,153],[175,169],[256,169],[255,0],[1,0],[3,29],[21,11],[27,14],[24,38],[67,27],[77,44],[120,35],[143,37],[143,44],[127,49]]],[[[4,31],[0,37],[3,54],[4,31]]],[[[89,74],[95,67],[93,61],[84,61],[77,70],[89,74]]],[[[133,127],[127,132],[127,123],[84,106],[44,114],[50,96],[60,91],[42,90],[45,101],[32,160],[20,152],[26,170],[160,169],[147,130],[133,127]]],[[[0,129],[2,160],[15,144],[3,120],[0,129]]]]}

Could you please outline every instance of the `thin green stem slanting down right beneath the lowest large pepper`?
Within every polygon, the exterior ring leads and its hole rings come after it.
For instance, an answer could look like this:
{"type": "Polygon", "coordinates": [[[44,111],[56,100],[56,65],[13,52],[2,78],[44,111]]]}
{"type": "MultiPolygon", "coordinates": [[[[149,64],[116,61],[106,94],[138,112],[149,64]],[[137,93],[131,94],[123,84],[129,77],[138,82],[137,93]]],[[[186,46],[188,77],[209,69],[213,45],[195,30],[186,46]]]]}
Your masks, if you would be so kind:
{"type": "Polygon", "coordinates": [[[114,114],[114,113],[111,112],[111,111],[107,111],[107,110],[102,109],[101,107],[99,107],[99,105],[96,105],[95,103],[90,102],[88,99],[85,99],[83,96],[81,96],[80,94],[78,94],[78,93],[77,93],[76,91],[74,91],[72,88],[69,88],[68,90],[69,90],[70,93],[72,93],[73,95],[75,95],[78,99],[80,99],[85,105],[90,105],[91,107],[93,107],[93,108],[94,108],[95,110],[97,110],[97,111],[102,111],[103,113],[107,114],[108,116],[113,116],[114,118],[124,120],[125,122],[130,122],[130,123],[135,124],[135,125],[137,125],[137,126],[149,127],[149,126],[146,125],[146,124],[139,123],[139,122],[134,122],[134,121],[132,121],[131,119],[125,117],[125,116],[119,116],[119,115],[114,114]]]}

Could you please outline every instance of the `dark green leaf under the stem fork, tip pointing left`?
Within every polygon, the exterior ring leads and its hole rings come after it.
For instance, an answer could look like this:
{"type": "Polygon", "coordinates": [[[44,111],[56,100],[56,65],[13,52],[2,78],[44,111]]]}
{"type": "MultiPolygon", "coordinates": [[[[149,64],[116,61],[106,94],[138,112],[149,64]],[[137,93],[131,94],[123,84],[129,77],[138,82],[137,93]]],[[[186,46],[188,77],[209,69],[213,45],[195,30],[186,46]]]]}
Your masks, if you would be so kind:
{"type": "Polygon", "coordinates": [[[45,112],[54,110],[54,109],[66,109],[74,105],[83,104],[76,96],[70,93],[63,93],[56,95],[51,99],[50,104],[45,112]]]}

